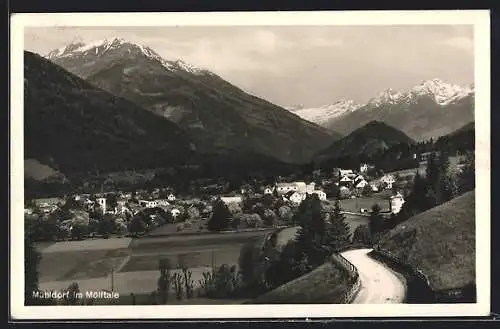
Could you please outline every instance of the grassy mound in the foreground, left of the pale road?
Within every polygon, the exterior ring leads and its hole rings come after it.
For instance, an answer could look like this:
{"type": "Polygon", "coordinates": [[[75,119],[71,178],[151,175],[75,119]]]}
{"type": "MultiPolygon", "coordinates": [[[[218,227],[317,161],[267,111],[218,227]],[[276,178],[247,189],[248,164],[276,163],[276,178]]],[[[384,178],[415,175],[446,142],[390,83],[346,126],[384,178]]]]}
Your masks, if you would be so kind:
{"type": "Polygon", "coordinates": [[[328,262],[248,304],[339,304],[348,289],[346,275],[328,262]]]}

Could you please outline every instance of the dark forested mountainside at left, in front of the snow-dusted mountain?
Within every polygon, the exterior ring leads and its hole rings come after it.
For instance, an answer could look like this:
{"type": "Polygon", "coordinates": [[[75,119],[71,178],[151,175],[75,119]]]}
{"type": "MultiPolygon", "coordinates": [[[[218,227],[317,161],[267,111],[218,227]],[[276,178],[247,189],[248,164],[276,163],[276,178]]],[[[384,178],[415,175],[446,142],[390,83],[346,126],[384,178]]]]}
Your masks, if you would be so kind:
{"type": "Polygon", "coordinates": [[[195,147],[169,120],[24,52],[25,159],[66,172],[173,166],[195,147]]]}

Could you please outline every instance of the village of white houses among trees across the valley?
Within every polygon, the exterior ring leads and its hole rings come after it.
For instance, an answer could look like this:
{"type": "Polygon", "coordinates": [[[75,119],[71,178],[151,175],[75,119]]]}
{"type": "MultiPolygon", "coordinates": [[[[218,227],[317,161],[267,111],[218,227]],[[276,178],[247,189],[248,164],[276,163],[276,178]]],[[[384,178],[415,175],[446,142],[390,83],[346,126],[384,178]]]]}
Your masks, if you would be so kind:
{"type": "Polygon", "coordinates": [[[404,204],[404,181],[385,174],[374,177],[373,166],[359,170],[335,168],[316,181],[285,181],[251,186],[209,197],[180,196],[171,188],[77,194],[63,198],[29,200],[25,216],[34,225],[39,241],[81,240],[209,231],[207,222],[214,202],[230,210],[233,230],[255,230],[292,225],[294,211],[307,195],[316,195],[324,205],[341,200],[347,219],[369,216],[377,203],[385,215],[397,214],[404,204]]]}

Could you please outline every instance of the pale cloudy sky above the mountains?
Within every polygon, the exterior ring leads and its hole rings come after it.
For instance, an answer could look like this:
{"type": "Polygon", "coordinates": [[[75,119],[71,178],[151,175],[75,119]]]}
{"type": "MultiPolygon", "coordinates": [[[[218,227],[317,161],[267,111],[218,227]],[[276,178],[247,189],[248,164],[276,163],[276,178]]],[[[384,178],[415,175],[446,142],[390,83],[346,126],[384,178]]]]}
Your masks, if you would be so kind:
{"type": "Polygon", "coordinates": [[[474,82],[472,25],[27,27],[25,50],[121,37],[275,104],[367,102],[424,80],[474,82]]]}

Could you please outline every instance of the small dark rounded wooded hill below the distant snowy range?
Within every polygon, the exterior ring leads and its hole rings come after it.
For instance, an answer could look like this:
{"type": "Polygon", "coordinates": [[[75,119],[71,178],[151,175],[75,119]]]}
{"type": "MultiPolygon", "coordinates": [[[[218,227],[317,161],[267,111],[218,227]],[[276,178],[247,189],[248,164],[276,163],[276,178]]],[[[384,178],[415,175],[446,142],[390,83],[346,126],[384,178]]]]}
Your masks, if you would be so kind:
{"type": "Polygon", "coordinates": [[[380,121],[371,121],[317,154],[317,160],[348,156],[372,156],[398,144],[414,141],[400,130],[380,121]]]}

